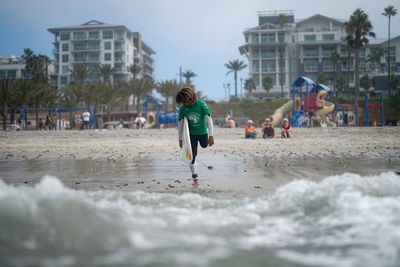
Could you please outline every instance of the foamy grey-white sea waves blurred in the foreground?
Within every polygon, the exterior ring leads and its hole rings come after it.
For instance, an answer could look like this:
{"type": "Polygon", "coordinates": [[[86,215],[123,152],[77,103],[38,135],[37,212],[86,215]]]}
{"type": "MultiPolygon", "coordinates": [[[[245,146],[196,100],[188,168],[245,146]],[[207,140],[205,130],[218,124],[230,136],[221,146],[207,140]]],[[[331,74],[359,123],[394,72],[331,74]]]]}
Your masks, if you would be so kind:
{"type": "Polygon", "coordinates": [[[400,177],[345,173],[251,198],[0,180],[0,266],[400,266],[400,177]]]}

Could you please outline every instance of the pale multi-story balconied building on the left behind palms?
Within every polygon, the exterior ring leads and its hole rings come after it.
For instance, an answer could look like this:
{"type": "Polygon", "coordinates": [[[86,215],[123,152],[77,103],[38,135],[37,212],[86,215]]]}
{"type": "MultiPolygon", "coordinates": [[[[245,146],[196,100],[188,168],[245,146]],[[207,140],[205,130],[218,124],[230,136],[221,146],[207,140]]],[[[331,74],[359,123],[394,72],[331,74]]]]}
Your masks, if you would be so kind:
{"type": "Polygon", "coordinates": [[[101,80],[101,65],[110,65],[114,74],[111,83],[132,77],[129,67],[139,64],[139,77],[153,78],[155,52],[143,42],[141,34],[123,25],[111,25],[96,20],[78,26],[48,29],[54,34],[55,72],[51,82],[64,91],[67,84],[77,80],[77,70],[88,71],[88,82],[101,80]]]}

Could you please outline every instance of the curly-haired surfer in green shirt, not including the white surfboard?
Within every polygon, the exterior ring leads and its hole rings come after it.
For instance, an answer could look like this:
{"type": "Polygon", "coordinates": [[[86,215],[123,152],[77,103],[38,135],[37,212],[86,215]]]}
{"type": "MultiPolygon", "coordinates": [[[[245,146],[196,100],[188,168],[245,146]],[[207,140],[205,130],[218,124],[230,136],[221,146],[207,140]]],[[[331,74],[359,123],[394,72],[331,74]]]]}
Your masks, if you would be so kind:
{"type": "Polygon", "coordinates": [[[214,144],[211,111],[204,100],[197,99],[195,91],[190,87],[184,87],[178,92],[176,103],[180,106],[178,115],[179,147],[182,148],[183,144],[183,118],[186,117],[189,124],[190,143],[193,152],[193,160],[189,167],[192,173],[193,185],[198,186],[199,179],[196,164],[198,143],[200,143],[202,148],[214,144]]]}

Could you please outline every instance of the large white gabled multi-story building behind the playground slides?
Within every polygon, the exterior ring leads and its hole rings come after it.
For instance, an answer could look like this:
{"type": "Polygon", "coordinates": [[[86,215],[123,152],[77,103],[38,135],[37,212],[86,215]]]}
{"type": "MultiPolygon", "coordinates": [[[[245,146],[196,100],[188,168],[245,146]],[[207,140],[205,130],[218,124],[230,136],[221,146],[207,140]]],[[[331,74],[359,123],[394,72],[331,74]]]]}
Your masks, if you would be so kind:
{"type": "MultiPolygon", "coordinates": [[[[280,97],[283,91],[288,97],[291,82],[299,75],[325,80],[331,87],[342,78],[354,87],[354,54],[347,49],[345,20],[317,14],[296,21],[293,11],[259,12],[258,19],[257,27],[244,31],[245,44],[239,47],[248,58],[249,78],[256,85],[253,96],[280,97]],[[337,62],[332,60],[333,52],[340,56],[337,62]],[[269,94],[262,86],[265,77],[273,81],[269,94]]],[[[387,50],[387,39],[370,38],[370,44],[360,50],[360,74],[374,76],[375,89],[386,92],[385,53],[379,63],[369,60],[378,50],[387,50]]],[[[390,56],[392,73],[399,75],[400,36],[391,40],[390,56]]]]}

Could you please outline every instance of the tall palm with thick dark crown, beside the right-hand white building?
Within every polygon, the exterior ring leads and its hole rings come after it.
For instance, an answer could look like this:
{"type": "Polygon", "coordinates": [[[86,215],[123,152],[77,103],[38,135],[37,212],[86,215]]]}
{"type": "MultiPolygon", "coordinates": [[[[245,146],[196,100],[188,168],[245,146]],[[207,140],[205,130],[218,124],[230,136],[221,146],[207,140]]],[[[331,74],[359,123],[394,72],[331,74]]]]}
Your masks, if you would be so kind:
{"type": "Polygon", "coordinates": [[[360,49],[368,44],[368,36],[375,37],[372,32],[372,24],[368,19],[368,15],[360,8],[357,8],[350,16],[349,21],[344,23],[347,33],[347,43],[354,49],[355,59],[355,116],[356,126],[358,126],[358,95],[360,90],[360,49]]]}

